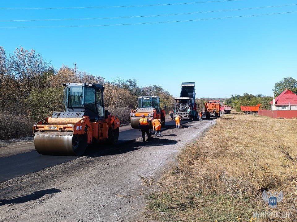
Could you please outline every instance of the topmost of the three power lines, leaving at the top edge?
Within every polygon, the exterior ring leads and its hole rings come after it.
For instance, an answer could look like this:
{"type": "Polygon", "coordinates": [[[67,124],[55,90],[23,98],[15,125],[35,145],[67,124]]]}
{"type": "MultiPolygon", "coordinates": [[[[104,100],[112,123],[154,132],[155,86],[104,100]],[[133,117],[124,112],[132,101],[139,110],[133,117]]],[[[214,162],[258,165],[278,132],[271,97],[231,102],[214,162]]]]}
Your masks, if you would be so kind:
{"type": "Polygon", "coordinates": [[[148,6],[170,6],[170,5],[189,5],[199,3],[213,3],[213,2],[233,2],[241,0],[219,0],[219,1],[205,1],[205,2],[181,2],[168,4],[154,4],[154,5],[130,5],[130,6],[90,6],[90,7],[50,7],[50,8],[0,8],[0,10],[47,10],[47,9],[91,9],[91,8],[127,8],[127,7],[148,7],[148,6]]]}

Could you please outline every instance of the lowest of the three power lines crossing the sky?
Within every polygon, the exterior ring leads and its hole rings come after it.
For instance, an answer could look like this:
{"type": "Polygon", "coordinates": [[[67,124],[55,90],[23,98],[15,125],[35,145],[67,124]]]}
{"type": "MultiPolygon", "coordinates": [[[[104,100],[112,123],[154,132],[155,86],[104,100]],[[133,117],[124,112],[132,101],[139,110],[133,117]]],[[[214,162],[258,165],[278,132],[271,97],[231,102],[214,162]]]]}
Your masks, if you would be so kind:
{"type": "Polygon", "coordinates": [[[279,12],[269,14],[254,14],[254,15],[240,15],[220,18],[208,18],[208,19],[191,19],[191,20],[179,20],[179,21],[165,21],[165,22],[149,22],[149,23],[124,23],[124,24],[106,24],[106,25],[72,25],[72,26],[28,26],[28,27],[0,27],[0,29],[15,29],[15,28],[66,28],[66,27],[104,27],[104,26],[128,26],[128,25],[147,25],[147,24],[160,24],[160,23],[180,23],[180,22],[194,22],[203,20],[215,20],[215,19],[232,19],[232,18],[243,18],[261,15],[276,15],[276,14],[289,14],[296,13],[297,11],[291,12],[279,12]]]}

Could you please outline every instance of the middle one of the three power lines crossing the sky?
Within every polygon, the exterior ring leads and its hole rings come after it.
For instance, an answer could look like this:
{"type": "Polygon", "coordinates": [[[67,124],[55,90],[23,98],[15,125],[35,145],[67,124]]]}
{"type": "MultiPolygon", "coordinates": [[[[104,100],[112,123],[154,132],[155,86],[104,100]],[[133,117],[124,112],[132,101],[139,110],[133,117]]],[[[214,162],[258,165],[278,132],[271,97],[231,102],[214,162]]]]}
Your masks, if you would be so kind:
{"type": "Polygon", "coordinates": [[[122,17],[103,17],[103,18],[72,18],[72,19],[30,19],[30,20],[0,20],[0,22],[33,22],[33,21],[67,21],[67,20],[95,20],[95,19],[127,19],[127,18],[143,18],[143,17],[158,17],[158,16],[169,16],[169,15],[186,15],[186,14],[199,14],[199,13],[210,13],[210,12],[223,12],[223,11],[236,11],[236,10],[251,10],[251,9],[263,9],[273,7],[284,7],[284,6],[296,6],[297,4],[291,5],[278,5],[278,6],[263,6],[253,8],[241,8],[241,9],[226,9],[216,11],[200,11],[200,12],[187,12],[187,13],[175,13],[175,14],[158,14],[158,15],[136,15],[136,16],[122,16],[122,17]]]}

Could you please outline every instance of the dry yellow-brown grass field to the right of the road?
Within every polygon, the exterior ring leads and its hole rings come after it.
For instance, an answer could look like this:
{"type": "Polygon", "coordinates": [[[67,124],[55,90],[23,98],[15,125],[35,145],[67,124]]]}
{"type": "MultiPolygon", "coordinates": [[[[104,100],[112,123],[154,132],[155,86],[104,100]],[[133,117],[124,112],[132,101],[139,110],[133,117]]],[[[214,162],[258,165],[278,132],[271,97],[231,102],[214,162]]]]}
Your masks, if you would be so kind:
{"type": "Polygon", "coordinates": [[[271,221],[261,192],[282,190],[275,211],[296,221],[297,119],[224,115],[165,173],[149,195],[148,218],[160,221],[271,221]]]}

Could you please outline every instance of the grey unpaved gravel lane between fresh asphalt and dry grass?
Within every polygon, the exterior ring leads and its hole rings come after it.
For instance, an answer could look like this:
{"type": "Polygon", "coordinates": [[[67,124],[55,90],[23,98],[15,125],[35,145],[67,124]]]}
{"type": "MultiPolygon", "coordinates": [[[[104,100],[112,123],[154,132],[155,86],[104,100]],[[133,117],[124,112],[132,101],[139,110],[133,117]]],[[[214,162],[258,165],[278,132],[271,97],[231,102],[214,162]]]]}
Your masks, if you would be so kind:
{"type": "Polygon", "coordinates": [[[137,139],[0,183],[0,221],[136,221],[140,176],[157,178],[214,122],[188,122],[152,142],[137,139]]]}

